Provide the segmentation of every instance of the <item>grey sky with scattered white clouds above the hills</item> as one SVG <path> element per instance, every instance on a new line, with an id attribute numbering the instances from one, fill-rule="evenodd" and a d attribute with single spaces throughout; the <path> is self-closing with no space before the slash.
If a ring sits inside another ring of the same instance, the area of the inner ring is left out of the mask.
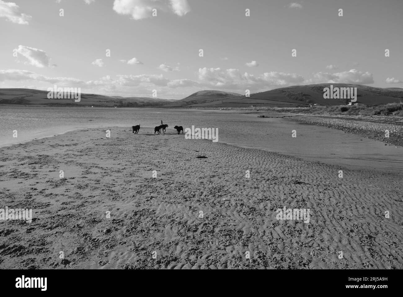
<path id="1" fill-rule="evenodd" d="M 0 88 L 182 99 L 403 87 L 402 0 L 294 1 L 0 0 Z"/>

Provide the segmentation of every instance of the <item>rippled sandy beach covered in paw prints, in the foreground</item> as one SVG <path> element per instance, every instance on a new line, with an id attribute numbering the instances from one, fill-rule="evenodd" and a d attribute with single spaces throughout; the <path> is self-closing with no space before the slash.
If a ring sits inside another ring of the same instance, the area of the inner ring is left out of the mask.
<path id="1" fill-rule="evenodd" d="M 32 223 L 0 221 L 2 268 L 403 268 L 398 173 L 150 128 L 0 152 L 0 208 L 33 209 Z M 310 209 L 309 223 L 277 219 L 283 207 Z"/>

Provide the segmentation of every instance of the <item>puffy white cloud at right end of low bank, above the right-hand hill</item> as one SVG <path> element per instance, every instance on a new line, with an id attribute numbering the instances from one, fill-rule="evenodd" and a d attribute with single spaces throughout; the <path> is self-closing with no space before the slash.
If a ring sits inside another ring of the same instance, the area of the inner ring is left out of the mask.
<path id="1" fill-rule="evenodd" d="M 331 83 L 331 84 L 373 84 L 372 73 L 361 72 L 355 69 L 339 73 L 318 72 L 310 80 L 312 83 Z"/>

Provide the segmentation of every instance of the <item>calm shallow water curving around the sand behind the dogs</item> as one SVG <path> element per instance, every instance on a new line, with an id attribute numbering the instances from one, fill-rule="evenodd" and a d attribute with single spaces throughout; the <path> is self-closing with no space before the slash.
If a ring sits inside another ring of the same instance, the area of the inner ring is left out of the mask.
<path id="1" fill-rule="evenodd" d="M 277 115 L 275 115 L 277 116 Z M 218 128 L 218 141 L 340 166 L 403 172 L 403 148 L 282 118 L 257 118 L 224 110 L 156 108 L 0 107 L 0 146 L 91 127 L 168 124 Z M 13 138 L 13 130 L 18 138 Z M 291 131 L 297 137 L 291 137 Z M 128 132 L 129 133 L 129 132 Z M 141 133 L 141 130 L 140 132 Z"/>

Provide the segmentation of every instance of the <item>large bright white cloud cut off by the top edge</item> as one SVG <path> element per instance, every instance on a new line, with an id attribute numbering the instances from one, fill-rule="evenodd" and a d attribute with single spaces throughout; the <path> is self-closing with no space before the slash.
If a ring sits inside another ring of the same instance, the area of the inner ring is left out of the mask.
<path id="1" fill-rule="evenodd" d="M 187 0 L 114 0 L 113 10 L 120 15 L 131 15 L 139 20 L 152 16 L 152 9 L 170 9 L 176 15 L 183 16 L 190 11 Z"/>

